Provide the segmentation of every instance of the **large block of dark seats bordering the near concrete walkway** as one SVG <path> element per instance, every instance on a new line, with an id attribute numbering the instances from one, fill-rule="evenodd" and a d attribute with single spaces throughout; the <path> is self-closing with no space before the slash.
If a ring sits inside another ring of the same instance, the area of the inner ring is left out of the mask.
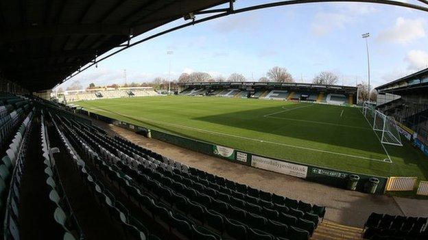
<path id="1" fill-rule="evenodd" d="M 86 149 L 80 156 L 88 156 L 82 157 L 85 166 L 93 165 L 91 171 L 103 172 L 143 211 L 165 224 L 169 231 L 189 239 L 308 239 L 318 226 L 318 219 L 324 217 L 324 207 L 187 168 L 119 137 L 108 137 L 104 131 L 83 122 L 60 116 L 53 119 L 58 129 L 67 130 L 67 137 L 78 139 L 74 142 L 80 146 L 75 149 Z M 116 207 L 112 212 L 117 212 L 124 228 L 129 230 L 127 224 L 132 216 L 121 204 L 114 204 L 113 196 L 107 197 L 102 197 L 101 202 Z M 138 229 L 149 235 L 147 229 Z"/>

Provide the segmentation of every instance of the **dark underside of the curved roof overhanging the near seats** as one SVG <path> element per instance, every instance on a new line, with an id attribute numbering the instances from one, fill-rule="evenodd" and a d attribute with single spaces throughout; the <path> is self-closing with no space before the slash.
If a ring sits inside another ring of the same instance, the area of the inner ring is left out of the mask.
<path id="1" fill-rule="evenodd" d="M 53 88 L 130 36 L 225 2 L 1 1 L 0 75 L 32 91 Z"/>

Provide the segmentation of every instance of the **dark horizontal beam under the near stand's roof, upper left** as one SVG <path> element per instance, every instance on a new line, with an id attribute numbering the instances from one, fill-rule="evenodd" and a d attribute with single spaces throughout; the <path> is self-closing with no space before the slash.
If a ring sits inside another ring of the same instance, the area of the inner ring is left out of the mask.
<path id="1" fill-rule="evenodd" d="M 8 34 L 0 36 L 0 43 L 18 42 L 21 40 L 36 38 L 49 38 L 54 36 L 99 34 L 128 36 L 130 32 L 132 32 L 132 28 L 127 25 L 110 25 L 101 23 L 38 26 L 7 31 Z"/>

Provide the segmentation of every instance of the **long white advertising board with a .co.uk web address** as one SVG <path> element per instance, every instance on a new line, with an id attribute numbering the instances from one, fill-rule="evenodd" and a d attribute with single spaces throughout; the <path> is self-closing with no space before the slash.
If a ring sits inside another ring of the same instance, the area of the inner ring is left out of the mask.
<path id="1" fill-rule="evenodd" d="M 254 168 L 261 168 L 263 170 L 279 172 L 290 176 L 297 176 L 298 178 L 307 177 L 308 168 L 305 165 L 287 163 L 285 161 L 278 161 L 255 155 L 252 155 L 251 157 L 251 165 Z"/>

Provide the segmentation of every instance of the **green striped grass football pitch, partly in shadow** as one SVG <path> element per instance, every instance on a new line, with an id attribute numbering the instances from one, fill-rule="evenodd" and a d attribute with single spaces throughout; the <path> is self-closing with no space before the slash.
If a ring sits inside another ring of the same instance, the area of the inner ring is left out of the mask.
<path id="1" fill-rule="evenodd" d="M 428 158 L 422 152 L 403 137 L 403 147 L 382 146 L 356 107 L 195 96 L 76 104 L 131 124 L 267 157 L 377 176 L 428 178 Z"/>

